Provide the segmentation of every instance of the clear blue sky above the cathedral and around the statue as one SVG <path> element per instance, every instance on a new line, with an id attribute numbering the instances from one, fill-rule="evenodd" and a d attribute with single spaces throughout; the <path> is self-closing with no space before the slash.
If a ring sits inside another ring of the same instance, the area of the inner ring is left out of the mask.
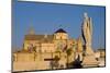
<path id="1" fill-rule="evenodd" d="M 84 12 L 92 19 L 92 48 L 105 48 L 105 7 L 21 1 L 12 3 L 12 46 L 22 47 L 30 27 L 36 34 L 53 34 L 62 27 L 77 39 L 81 35 Z"/>

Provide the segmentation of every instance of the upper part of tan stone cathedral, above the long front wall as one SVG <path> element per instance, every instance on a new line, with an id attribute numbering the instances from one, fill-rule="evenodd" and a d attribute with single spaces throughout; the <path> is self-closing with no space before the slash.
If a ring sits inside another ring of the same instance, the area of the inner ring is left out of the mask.
<path id="1" fill-rule="evenodd" d="M 23 50 L 34 52 L 55 52 L 66 51 L 73 47 L 76 41 L 68 37 L 68 34 L 63 28 L 57 29 L 52 35 L 36 35 L 31 28 L 24 37 Z"/>

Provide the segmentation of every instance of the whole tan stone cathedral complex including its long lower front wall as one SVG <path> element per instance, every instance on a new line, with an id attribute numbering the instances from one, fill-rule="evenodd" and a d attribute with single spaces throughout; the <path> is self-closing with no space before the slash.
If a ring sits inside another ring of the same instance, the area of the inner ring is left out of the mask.
<path id="1" fill-rule="evenodd" d="M 13 71 L 66 69 L 74 61 L 78 45 L 63 28 L 52 35 L 36 35 L 30 29 L 24 36 L 23 49 L 13 53 Z M 68 49 L 72 49 L 69 56 Z"/>

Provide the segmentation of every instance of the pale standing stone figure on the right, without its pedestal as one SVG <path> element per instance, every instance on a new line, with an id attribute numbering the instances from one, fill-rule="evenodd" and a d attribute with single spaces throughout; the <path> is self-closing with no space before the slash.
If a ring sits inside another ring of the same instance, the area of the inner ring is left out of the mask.
<path id="1" fill-rule="evenodd" d="M 82 29 L 82 38 L 86 47 L 86 53 L 94 53 L 94 51 L 91 50 L 92 23 L 91 23 L 91 17 L 88 17 L 87 13 L 84 13 L 84 23 L 81 29 Z"/>

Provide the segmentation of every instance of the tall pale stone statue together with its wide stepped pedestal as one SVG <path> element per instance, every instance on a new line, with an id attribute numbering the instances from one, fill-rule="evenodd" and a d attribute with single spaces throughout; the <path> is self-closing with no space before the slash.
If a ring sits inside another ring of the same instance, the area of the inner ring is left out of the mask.
<path id="1" fill-rule="evenodd" d="M 81 27 L 82 38 L 84 38 L 84 51 L 82 51 L 82 63 L 86 66 L 97 66 L 98 62 L 95 58 L 94 50 L 91 48 L 92 41 L 92 23 L 91 17 L 88 17 L 87 13 L 84 13 L 84 23 Z"/>

